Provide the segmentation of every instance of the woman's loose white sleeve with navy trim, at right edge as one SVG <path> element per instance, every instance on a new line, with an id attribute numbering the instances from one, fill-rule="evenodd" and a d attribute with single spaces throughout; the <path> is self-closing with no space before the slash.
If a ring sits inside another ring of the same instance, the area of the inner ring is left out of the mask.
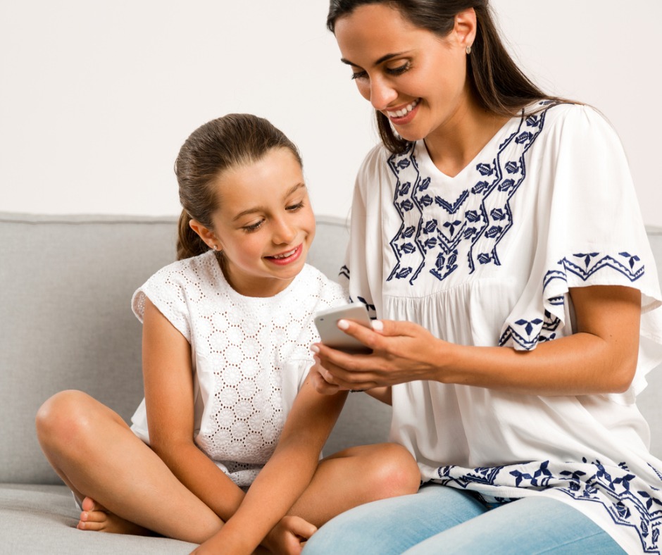
<path id="1" fill-rule="evenodd" d="M 570 335 L 570 287 L 639 289 L 639 363 L 624 397 L 630 401 L 662 361 L 662 295 L 625 152 L 613 127 L 593 108 L 555 106 L 547 119 L 549 135 L 538 158 L 537 250 L 499 344 L 530 350 Z"/>

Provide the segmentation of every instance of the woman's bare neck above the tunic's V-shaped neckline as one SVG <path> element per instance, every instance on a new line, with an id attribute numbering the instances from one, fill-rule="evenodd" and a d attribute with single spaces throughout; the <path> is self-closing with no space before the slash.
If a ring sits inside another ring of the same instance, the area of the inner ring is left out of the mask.
<path id="1" fill-rule="evenodd" d="M 432 163 L 449 177 L 466 168 L 510 119 L 486 111 L 469 92 L 466 99 L 446 123 L 425 137 Z"/>

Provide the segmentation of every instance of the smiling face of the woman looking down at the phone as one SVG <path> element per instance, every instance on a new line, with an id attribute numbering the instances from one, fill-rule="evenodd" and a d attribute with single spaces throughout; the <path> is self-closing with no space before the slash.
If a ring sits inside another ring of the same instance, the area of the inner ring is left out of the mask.
<path id="1" fill-rule="evenodd" d="M 394 8 L 368 4 L 339 18 L 335 37 L 358 92 L 404 139 L 443 132 L 466 112 L 473 10 L 458 14 L 454 30 L 442 38 L 409 23 Z"/>

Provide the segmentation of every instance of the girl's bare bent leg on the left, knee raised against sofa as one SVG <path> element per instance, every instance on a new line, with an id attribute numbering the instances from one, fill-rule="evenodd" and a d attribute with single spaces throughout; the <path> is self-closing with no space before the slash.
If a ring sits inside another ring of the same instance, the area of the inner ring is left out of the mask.
<path id="1" fill-rule="evenodd" d="M 223 525 L 117 413 L 85 393 L 65 391 L 47 400 L 37 413 L 37 437 L 77 499 L 89 508 L 85 498 L 92 498 L 101 505 L 96 509 L 110 511 L 109 528 L 125 528 L 115 515 L 161 535 L 201 543 Z M 88 528 L 98 529 L 93 523 L 101 511 L 84 513 Z"/>

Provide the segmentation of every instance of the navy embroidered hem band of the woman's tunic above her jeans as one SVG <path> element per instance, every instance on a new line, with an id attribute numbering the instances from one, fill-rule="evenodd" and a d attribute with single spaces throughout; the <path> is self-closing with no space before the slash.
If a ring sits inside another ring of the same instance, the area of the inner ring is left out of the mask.
<path id="1" fill-rule="evenodd" d="M 660 476 L 657 470 L 655 473 Z M 635 530 L 644 553 L 660 553 L 660 489 L 637 479 L 626 463 L 606 467 L 600 461 L 582 459 L 582 463 L 542 461 L 473 469 L 440 466 L 437 475 L 435 482 L 502 501 L 509 500 L 499 494 L 502 487 L 538 491 L 554 488 L 577 501 L 601 504 L 616 525 Z"/>

